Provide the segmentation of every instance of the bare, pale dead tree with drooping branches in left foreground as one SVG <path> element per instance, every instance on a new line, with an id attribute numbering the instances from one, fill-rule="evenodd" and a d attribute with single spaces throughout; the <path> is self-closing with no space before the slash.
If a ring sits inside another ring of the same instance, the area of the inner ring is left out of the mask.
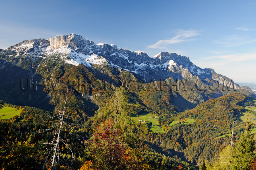
<path id="1" fill-rule="evenodd" d="M 66 143 L 66 141 L 61 138 L 61 132 L 63 130 L 63 127 L 69 127 L 69 128 L 72 129 L 72 127 L 64 121 L 64 119 L 65 119 L 64 114 L 65 114 L 66 104 L 67 104 L 67 95 L 68 95 L 68 91 L 67 91 L 67 94 L 66 94 L 65 101 L 63 101 L 64 102 L 63 109 L 62 110 L 56 110 L 55 109 L 55 115 L 53 117 L 50 117 L 50 118 L 57 118 L 57 123 L 52 122 L 55 125 L 53 127 L 51 127 L 50 129 L 45 130 L 45 131 L 48 131 L 48 130 L 51 130 L 51 129 L 56 129 L 54 131 L 54 136 L 53 136 L 53 139 L 51 140 L 51 142 L 44 143 L 44 144 L 48 145 L 48 147 L 47 147 L 48 156 L 47 156 L 46 161 L 44 163 L 43 169 L 47 165 L 49 165 L 50 163 L 51 163 L 51 167 L 49 168 L 50 170 L 56 169 L 56 164 L 57 163 L 58 164 L 63 164 L 64 163 L 65 158 L 61 154 L 61 151 L 63 151 L 63 150 L 60 149 L 60 143 L 64 144 L 67 148 L 69 148 L 69 150 L 71 151 L 71 154 L 72 154 L 71 155 L 72 156 L 71 161 L 72 161 L 72 163 L 73 163 L 73 161 L 75 161 L 72 149 Z M 69 130 L 69 133 L 71 134 L 70 130 Z M 65 161 L 65 164 L 68 165 L 67 161 Z"/>

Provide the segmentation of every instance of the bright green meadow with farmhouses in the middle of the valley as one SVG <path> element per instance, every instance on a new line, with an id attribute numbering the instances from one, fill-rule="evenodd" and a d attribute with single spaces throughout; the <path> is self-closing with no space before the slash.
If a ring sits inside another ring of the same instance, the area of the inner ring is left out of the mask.
<path id="1" fill-rule="evenodd" d="M 152 125 L 155 125 L 155 126 L 149 127 L 149 130 L 151 130 L 152 132 L 164 133 L 164 130 L 162 129 L 162 127 L 159 125 L 156 125 L 159 117 L 157 116 L 156 119 L 150 118 L 150 117 L 155 117 L 155 116 L 150 113 L 141 113 L 141 114 L 139 114 L 139 117 L 137 117 L 136 115 L 132 116 L 132 118 L 135 120 L 135 122 L 139 122 L 138 119 L 141 119 L 143 121 L 145 120 L 146 122 L 152 122 Z"/>

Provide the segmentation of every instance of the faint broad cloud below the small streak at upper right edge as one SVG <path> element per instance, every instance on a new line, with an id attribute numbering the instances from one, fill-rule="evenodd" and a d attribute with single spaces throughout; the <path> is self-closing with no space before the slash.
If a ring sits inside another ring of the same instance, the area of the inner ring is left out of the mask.
<path id="1" fill-rule="evenodd" d="M 256 42 L 256 39 L 251 39 L 248 36 L 225 36 L 214 43 L 220 44 L 223 47 L 233 47 L 237 45 L 243 45 L 248 43 Z"/>

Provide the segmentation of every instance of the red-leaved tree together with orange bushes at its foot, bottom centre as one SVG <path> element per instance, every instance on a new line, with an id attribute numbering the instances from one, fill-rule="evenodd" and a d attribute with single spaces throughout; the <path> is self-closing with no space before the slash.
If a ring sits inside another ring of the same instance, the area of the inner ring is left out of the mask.
<path id="1" fill-rule="evenodd" d="M 93 163 L 87 161 L 87 169 L 150 169 L 138 154 L 125 142 L 123 132 L 113 126 L 113 119 L 102 122 L 92 136 L 86 141 L 88 154 Z"/>

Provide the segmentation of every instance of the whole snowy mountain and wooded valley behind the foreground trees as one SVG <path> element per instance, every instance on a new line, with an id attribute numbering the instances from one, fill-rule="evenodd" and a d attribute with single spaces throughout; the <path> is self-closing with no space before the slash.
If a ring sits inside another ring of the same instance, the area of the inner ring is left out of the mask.
<path id="1" fill-rule="evenodd" d="M 69 142 L 76 162 L 62 169 L 85 169 L 99 161 L 88 154 L 93 145 L 84 141 L 106 125 L 95 125 L 93 118 L 110 113 L 113 95 L 123 96 L 121 110 L 134 121 L 129 125 L 136 125 L 137 136 L 134 141 L 124 139 L 133 148 L 126 152 L 137 155 L 136 166 L 129 164 L 133 157 L 128 154 L 119 169 L 199 169 L 214 164 L 230 144 L 233 122 L 232 139 L 237 142 L 245 130 L 245 112 L 254 117 L 256 110 L 250 88 L 197 67 L 189 57 L 168 52 L 149 57 L 144 51 L 95 44 L 77 34 L 0 49 L 0 80 L 0 114 L 5 107 L 19 109 L 16 116 L 5 118 L 3 112 L 0 119 L 0 167 L 6 169 L 15 164 L 42 168 L 47 157 L 43 143 L 54 137 L 54 130 L 42 131 L 51 127 L 55 119 L 49 115 L 63 107 L 67 90 L 65 114 L 73 137 L 65 129 L 63 140 Z M 115 90 L 119 87 L 120 94 Z M 100 118 L 111 120 L 109 115 Z M 256 128 L 256 120 L 251 122 Z M 64 145 L 61 152 L 71 159 Z"/>

